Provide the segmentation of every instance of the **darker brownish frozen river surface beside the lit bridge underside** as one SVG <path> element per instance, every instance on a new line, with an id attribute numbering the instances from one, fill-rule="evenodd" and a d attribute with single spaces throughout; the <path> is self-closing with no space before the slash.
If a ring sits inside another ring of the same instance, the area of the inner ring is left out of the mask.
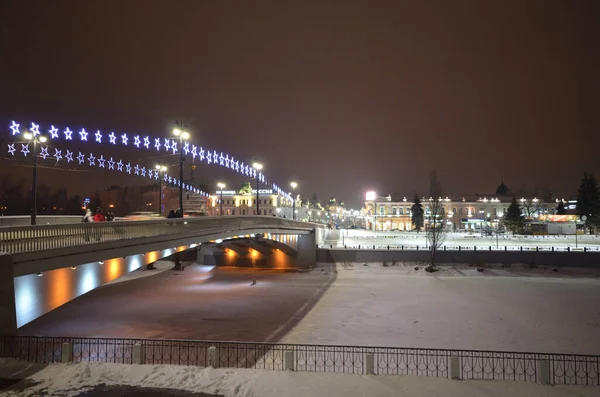
<path id="1" fill-rule="evenodd" d="M 332 269 L 207 271 L 192 265 L 97 288 L 18 334 L 275 342 L 333 282 Z"/>

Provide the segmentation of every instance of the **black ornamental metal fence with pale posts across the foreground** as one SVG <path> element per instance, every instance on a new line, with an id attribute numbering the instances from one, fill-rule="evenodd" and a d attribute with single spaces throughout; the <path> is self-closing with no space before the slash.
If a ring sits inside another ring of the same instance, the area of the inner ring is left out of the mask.
<path id="1" fill-rule="evenodd" d="M 600 356 L 156 339 L 0 337 L 0 357 L 600 386 Z"/>

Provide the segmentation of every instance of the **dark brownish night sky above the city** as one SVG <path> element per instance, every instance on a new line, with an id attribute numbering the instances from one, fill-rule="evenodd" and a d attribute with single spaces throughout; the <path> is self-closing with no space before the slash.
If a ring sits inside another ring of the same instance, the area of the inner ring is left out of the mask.
<path id="1" fill-rule="evenodd" d="M 182 119 L 353 205 L 425 192 L 434 168 L 451 194 L 568 195 L 600 174 L 599 21 L 594 0 L 3 1 L 0 121 L 166 136 Z"/>

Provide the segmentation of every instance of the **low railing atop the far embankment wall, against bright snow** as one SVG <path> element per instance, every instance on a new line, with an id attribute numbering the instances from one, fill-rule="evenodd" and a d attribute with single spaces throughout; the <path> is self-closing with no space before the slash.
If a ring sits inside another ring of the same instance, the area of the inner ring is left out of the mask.
<path id="1" fill-rule="evenodd" d="M 358 244 L 358 245 L 336 245 L 319 244 L 317 248 L 324 249 L 352 249 L 352 250 L 387 250 L 387 251 L 429 251 L 431 247 L 418 244 L 406 245 L 383 245 L 383 244 Z M 600 246 L 585 247 L 554 247 L 554 246 L 527 246 L 527 245 L 444 245 L 438 248 L 438 251 L 521 251 L 521 252 L 600 252 Z"/>

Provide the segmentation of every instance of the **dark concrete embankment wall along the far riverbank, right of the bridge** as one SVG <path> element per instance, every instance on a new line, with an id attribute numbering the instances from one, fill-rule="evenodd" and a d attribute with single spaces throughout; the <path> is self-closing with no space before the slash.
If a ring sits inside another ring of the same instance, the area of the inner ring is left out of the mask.
<path id="1" fill-rule="evenodd" d="M 548 266 L 600 267 L 597 252 L 438 251 L 437 263 L 524 263 Z M 318 249 L 317 262 L 428 262 L 429 251 Z"/>

